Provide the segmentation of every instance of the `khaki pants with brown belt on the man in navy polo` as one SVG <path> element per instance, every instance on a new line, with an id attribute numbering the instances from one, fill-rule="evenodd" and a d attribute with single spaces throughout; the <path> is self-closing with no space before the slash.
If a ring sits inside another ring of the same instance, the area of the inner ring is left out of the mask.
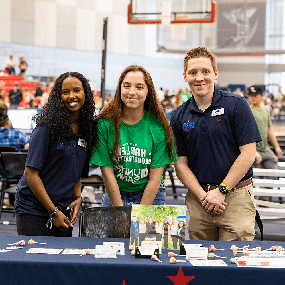
<path id="1" fill-rule="evenodd" d="M 225 197 L 225 210 L 220 215 L 208 214 L 189 190 L 185 204 L 189 211 L 188 233 L 192 240 L 253 241 L 255 236 L 255 201 L 253 185 L 236 189 Z"/>

